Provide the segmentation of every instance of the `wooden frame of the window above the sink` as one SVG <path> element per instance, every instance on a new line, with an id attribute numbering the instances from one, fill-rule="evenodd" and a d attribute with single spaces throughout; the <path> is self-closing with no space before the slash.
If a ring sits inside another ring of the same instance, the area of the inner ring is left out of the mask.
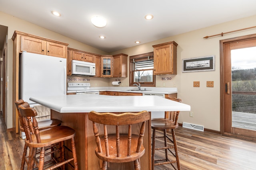
<path id="1" fill-rule="evenodd" d="M 144 53 L 144 54 L 139 54 L 139 55 L 133 55 L 133 56 L 130 56 L 129 57 L 129 74 L 130 74 L 130 85 L 129 86 L 133 86 L 134 83 L 137 83 L 137 82 L 134 82 L 134 70 L 133 70 L 133 60 L 135 61 L 144 61 L 144 60 L 147 60 L 148 57 L 150 57 L 151 59 L 154 60 L 154 52 L 149 52 L 149 53 Z M 154 75 L 154 68 L 152 69 L 145 69 L 145 70 L 152 70 L 153 71 L 153 82 L 138 82 L 140 83 L 140 85 L 142 87 L 156 87 L 156 75 Z"/>

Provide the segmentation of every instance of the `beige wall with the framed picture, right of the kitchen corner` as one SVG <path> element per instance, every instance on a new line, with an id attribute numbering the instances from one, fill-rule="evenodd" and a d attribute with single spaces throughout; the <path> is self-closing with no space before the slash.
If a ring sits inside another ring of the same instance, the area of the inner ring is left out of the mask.
<path id="1" fill-rule="evenodd" d="M 161 87 L 173 87 L 175 83 L 178 88 L 178 98 L 183 103 L 191 106 L 194 117 L 189 117 L 189 111 L 182 111 L 179 123 L 187 122 L 204 125 L 207 129 L 220 131 L 220 40 L 242 35 L 256 33 L 256 29 L 248 29 L 229 33 L 222 36 L 204 39 L 205 36 L 215 35 L 222 32 L 233 31 L 246 27 L 255 26 L 256 16 L 234 20 L 173 37 L 167 37 L 158 41 L 137 45 L 132 48 L 123 49 L 114 53 L 125 53 L 129 56 L 153 51 L 152 45 L 175 41 L 178 43 L 178 74 L 171 76 L 156 76 L 156 82 Z M 187 72 L 182 73 L 182 59 L 215 55 L 215 71 L 210 72 Z M 162 80 L 162 77 L 171 77 L 172 80 Z M 193 81 L 200 81 L 200 87 L 194 88 Z M 206 81 L 214 81 L 214 88 L 206 88 Z M 129 82 L 126 78 L 123 82 Z"/>

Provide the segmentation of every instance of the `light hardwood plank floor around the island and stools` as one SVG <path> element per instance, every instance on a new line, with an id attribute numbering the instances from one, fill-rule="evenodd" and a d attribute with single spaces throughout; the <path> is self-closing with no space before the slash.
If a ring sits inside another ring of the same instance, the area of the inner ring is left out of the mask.
<path id="1" fill-rule="evenodd" d="M 256 143 L 178 127 L 175 131 L 182 170 L 254 170 Z M 160 141 L 156 141 L 158 145 Z M 0 170 L 19 170 L 24 140 L 8 131 L 0 114 Z M 156 156 L 161 156 L 157 154 Z M 170 165 L 154 170 L 172 169 Z"/>

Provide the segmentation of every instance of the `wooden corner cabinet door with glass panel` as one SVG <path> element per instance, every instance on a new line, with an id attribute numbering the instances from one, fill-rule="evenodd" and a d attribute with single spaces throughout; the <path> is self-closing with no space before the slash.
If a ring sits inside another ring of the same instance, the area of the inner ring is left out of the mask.
<path id="1" fill-rule="evenodd" d="M 102 69 L 101 69 L 101 76 L 102 77 L 112 77 L 112 55 L 102 55 L 101 63 L 102 63 Z"/>

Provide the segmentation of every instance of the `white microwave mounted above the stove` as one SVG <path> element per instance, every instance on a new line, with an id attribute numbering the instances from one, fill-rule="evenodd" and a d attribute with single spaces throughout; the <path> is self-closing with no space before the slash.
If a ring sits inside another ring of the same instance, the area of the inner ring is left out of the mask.
<path id="1" fill-rule="evenodd" d="M 95 63 L 72 60 L 72 75 L 95 76 Z"/>

